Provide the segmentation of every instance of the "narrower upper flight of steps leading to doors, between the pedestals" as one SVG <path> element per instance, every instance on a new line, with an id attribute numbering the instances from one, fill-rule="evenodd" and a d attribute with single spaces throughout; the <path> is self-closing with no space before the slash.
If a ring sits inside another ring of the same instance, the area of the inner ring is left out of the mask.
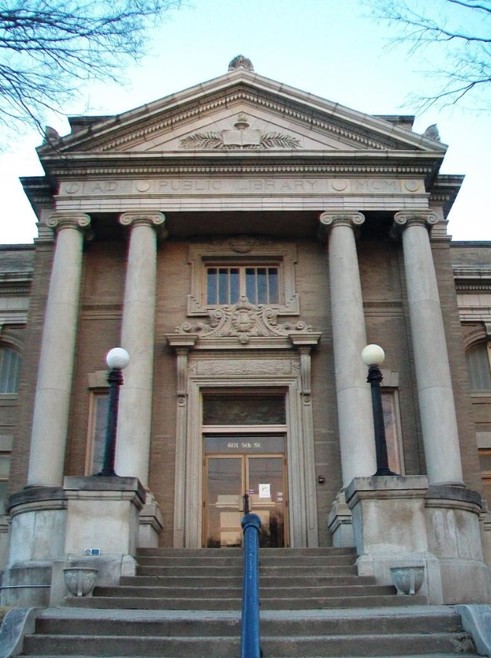
<path id="1" fill-rule="evenodd" d="M 364 608 L 426 603 L 405 599 L 393 587 L 356 575 L 352 549 L 262 549 L 262 610 Z M 147 610 L 240 610 L 240 549 L 143 549 L 138 575 L 118 587 L 97 587 L 94 596 L 69 605 Z"/>

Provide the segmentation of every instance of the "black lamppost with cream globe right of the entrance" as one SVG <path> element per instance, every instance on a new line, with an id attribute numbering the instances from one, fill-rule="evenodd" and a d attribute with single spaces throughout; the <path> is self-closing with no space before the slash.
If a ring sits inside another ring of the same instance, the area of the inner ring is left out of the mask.
<path id="1" fill-rule="evenodd" d="M 373 426 L 375 430 L 375 451 L 377 456 L 377 472 L 374 475 L 399 475 L 389 468 L 387 458 L 387 441 L 385 439 L 384 412 L 380 382 L 382 373 L 379 366 L 385 359 L 384 350 L 379 345 L 367 345 L 361 353 L 363 363 L 368 366 L 367 382 L 372 391 Z"/>

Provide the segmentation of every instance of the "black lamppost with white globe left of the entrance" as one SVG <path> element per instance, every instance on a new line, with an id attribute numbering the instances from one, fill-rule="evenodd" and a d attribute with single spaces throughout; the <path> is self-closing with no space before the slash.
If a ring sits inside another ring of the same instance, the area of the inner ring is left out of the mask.
<path id="1" fill-rule="evenodd" d="M 116 452 L 116 430 L 118 425 L 119 387 L 123 384 L 123 370 L 130 362 L 130 355 L 122 347 L 114 347 L 106 356 L 109 368 L 109 408 L 107 412 L 106 440 L 104 444 L 104 462 L 97 475 L 116 475 L 114 471 L 114 454 Z"/>

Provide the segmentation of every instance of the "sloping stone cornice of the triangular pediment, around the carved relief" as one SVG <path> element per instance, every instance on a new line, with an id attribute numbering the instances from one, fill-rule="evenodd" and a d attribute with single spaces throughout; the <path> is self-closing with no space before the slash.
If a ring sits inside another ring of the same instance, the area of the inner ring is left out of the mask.
<path id="1" fill-rule="evenodd" d="M 436 151 L 443 145 L 401 128 L 380 117 L 369 116 L 311 94 L 279 85 L 257 74 L 240 72 L 175 94 L 125 114 L 103 118 L 101 122 L 44 145 L 39 155 L 50 153 L 114 153 L 145 151 L 155 136 L 171 134 L 237 107 L 237 111 L 269 113 L 276 122 L 322 134 L 325 138 L 360 151 Z"/>

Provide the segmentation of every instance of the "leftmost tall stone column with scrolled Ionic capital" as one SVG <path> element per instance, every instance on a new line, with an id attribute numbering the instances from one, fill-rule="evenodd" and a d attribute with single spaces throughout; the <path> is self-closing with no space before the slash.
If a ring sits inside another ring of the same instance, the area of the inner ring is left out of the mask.
<path id="1" fill-rule="evenodd" d="M 57 232 L 34 401 L 29 486 L 61 486 L 82 272 L 83 229 L 90 217 L 55 213 Z"/>

